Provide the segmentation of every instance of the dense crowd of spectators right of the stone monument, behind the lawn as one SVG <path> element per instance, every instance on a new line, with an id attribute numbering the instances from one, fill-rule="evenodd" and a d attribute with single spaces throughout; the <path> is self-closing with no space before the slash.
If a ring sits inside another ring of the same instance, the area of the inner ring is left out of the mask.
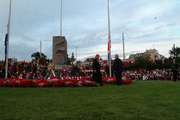
<path id="1" fill-rule="evenodd" d="M 173 68 L 175 59 L 173 59 L 172 68 L 169 69 L 154 69 L 154 70 L 127 70 L 122 71 L 122 77 L 130 78 L 131 80 L 180 80 L 180 71 L 177 70 L 179 64 L 176 64 L 176 68 Z M 112 76 L 115 77 L 114 68 L 112 67 Z M 84 72 L 87 77 L 92 76 L 92 72 Z M 109 71 L 101 72 L 103 77 L 109 76 Z"/>

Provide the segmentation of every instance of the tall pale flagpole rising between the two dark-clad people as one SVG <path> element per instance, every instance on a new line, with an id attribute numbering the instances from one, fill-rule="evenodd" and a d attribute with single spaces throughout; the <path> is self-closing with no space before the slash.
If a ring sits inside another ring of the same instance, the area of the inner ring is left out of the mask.
<path id="1" fill-rule="evenodd" d="M 108 5 L 108 40 L 109 40 L 109 75 L 111 76 L 111 35 L 110 35 L 110 18 L 109 18 L 109 0 Z"/>

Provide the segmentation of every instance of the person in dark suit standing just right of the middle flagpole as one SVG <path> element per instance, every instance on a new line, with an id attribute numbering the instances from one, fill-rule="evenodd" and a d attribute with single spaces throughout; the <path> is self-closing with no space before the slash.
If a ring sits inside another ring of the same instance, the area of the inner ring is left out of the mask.
<path id="1" fill-rule="evenodd" d="M 116 76 L 117 86 L 120 86 L 122 84 L 121 76 L 122 76 L 122 61 L 118 58 L 118 54 L 115 54 L 115 60 L 114 60 L 114 73 Z"/>

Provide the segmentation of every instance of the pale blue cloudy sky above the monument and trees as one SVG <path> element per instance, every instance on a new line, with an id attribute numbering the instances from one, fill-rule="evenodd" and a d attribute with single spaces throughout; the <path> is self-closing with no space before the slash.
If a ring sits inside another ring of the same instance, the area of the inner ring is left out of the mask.
<path id="1" fill-rule="evenodd" d="M 10 0 L 0 0 L 0 60 L 5 59 L 4 39 Z M 173 44 L 180 47 L 180 0 L 109 0 L 111 54 L 125 55 L 155 49 L 165 57 Z M 77 59 L 100 54 L 107 59 L 107 0 L 62 0 L 62 35 L 67 53 Z M 52 37 L 60 35 L 60 0 L 12 0 L 9 58 L 31 61 L 40 51 L 52 59 Z"/>

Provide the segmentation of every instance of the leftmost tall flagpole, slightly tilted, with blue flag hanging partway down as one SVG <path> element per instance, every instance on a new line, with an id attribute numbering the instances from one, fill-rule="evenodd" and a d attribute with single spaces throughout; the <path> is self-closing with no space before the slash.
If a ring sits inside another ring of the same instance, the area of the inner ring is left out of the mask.
<path id="1" fill-rule="evenodd" d="M 9 4 L 9 18 L 8 18 L 8 36 L 7 36 L 7 43 L 6 43 L 6 45 L 7 45 L 7 52 L 6 52 L 6 71 L 5 71 L 5 78 L 7 78 L 7 71 L 8 71 L 8 49 L 9 49 L 9 27 L 10 27 L 10 17 L 11 17 L 11 1 L 12 0 L 10 0 L 10 4 Z"/>

